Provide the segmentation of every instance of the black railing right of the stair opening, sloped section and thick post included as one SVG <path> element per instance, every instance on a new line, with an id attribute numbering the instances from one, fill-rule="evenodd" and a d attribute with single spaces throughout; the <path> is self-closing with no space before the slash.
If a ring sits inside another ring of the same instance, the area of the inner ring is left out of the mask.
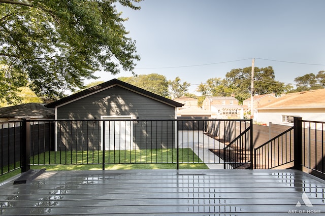
<path id="1" fill-rule="evenodd" d="M 325 179 L 325 122 L 294 117 L 290 128 L 255 148 L 255 169 L 294 168 Z"/>

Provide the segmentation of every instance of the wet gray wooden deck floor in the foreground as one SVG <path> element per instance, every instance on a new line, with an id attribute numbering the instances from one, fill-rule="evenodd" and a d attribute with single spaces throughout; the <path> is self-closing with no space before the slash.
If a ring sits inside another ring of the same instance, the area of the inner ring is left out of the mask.
<path id="1" fill-rule="evenodd" d="M 13 180 L 0 184 L 0 214 L 325 213 L 325 182 L 296 170 L 46 171 L 26 184 Z"/>

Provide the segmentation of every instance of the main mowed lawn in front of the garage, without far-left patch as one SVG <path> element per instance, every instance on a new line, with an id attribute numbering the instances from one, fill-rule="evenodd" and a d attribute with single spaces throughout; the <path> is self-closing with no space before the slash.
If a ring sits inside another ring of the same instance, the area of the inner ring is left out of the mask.
<path id="1" fill-rule="evenodd" d="M 108 167 L 119 166 L 130 167 L 129 165 L 135 165 L 136 167 L 142 167 L 140 165 L 156 164 L 164 165 L 164 168 L 168 168 L 168 165 L 172 165 L 177 162 L 177 150 L 176 149 L 143 149 L 143 150 L 115 150 L 115 151 L 66 151 L 66 152 L 45 152 L 34 156 L 30 159 L 32 165 L 76 165 L 76 167 L 88 166 L 88 165 L 101 165 L 103 164 L 103 157 L 105 164 Z M 199 167 L 206 167 L 202 160 L 191 149 L 179 149 L 179 163 L 201 165 Z M 184 165 L 185 165 L 184 164 Z M 202 166 L 204 165 L 204 166 Z M 153 166 L 148 166 L 153 167 Z M 188 168 L 193 166 L 188 166 Z M 199 168 L 198 167 L 198 168 Z M 122 167 L 121 167 L 122 168 Z M 174 167 L 171 167 L 174 168 Z M 175 166 L 176 168 L 176 166 Z M 109 168 L 108 168 L 109 169 Z M 132 169 L 132 167 L 131 167 Z M 150 168 L 149 168 L 150 169 Z M 70 170 L 70 169 L 69 169 Z"/>

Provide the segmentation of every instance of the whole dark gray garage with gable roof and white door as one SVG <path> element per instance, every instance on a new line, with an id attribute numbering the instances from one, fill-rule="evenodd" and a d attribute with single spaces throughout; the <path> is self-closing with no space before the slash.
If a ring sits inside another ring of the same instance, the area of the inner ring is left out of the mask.
<path id="1" fill-rule="evenodd" d="M 62 120 L 55 129 L 56 149 L 132 150 L 174 148 L 176 122 L 165 120 L 176 119 L 182 105 L 113 79 L 47 107 L 55 108 L 55 119 Z"/>

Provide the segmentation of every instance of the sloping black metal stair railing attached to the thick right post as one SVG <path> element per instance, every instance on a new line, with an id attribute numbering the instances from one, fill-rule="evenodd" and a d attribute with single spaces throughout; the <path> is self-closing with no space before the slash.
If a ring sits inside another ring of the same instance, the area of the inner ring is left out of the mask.
<path id="1" fill-rule="evenodd" d="M 255 148 L 254 157 L 255 169 L 272 169 L 294 162 L 294 127 Z"/>

